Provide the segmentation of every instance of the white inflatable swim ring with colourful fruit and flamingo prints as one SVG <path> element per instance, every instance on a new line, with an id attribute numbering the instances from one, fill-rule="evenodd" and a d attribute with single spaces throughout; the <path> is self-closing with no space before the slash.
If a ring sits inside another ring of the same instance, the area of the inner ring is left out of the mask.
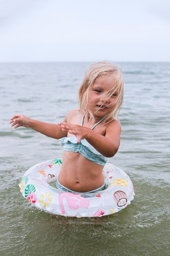
<path id="1" fill-rule="evenodd" d="M 29 168 L 19 184 L 24 198 L 49 213 L 75 217 L 101 217 L 124 209 L 133 200 L 130 177 L 120 168 L 106 163 L 103 169 L 107 189 L 94 193 L 58 190 L 50 183 L 57 180 L 62 159 L 53 159 Z"/>

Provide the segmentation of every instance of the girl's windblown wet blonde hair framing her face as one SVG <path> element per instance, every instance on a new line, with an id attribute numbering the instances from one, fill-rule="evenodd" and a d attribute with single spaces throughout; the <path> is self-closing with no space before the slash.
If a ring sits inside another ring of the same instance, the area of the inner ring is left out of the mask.
<path id="1" fill-rule="evenodd" d="M 121 69 L 115 64 L 110 62 L 98 62 L 93 63 L 88 67 L 79 88 L 79 110 L 81 112 L 88 111 L 91 119 L 94 121 L 93 113 L 88 109 L 88 92 L 93 86 L 95 80 L 102 75 L 113 76 L 113 88 L 110 92 L 105 93 L 105 99 L 107 100 L 110 98 L 115 92 L 117 94 L 116 101 L 114 103 L 114 110 L 106 115 L 104 119 L 104 124 L 106 124 L 113 119 L 119 120 L 119 109 L 123 103 L 124 78 Z"/>

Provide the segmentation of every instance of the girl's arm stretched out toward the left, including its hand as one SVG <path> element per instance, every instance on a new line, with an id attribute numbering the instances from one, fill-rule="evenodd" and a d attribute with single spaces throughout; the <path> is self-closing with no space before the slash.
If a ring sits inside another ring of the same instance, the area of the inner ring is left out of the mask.
<path id="1" fill-rule="evenodd" d="M 66 122 L 66 117 L 64 121 Z M 11 126 L 15 126 L 15 129 L 20 126 L 31 128 L 54 139 L 60 139 L 67 136 L 67 132 L 63 131 L 62 128 L 57 124 L 40 122 L 24 115 L 14 115 L 13 117 L 11 117 L 11 121 L 9 122 L 9 124 L 11 124 Z"/>

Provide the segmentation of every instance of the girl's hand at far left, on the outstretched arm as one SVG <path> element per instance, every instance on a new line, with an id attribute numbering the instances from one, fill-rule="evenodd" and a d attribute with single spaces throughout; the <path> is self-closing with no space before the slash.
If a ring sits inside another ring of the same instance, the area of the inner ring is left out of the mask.
<path id="1" fill-rule="evenodd" d="M 15 126 L 14 128 L 18 128 L 20 126 L 24 126 L 26 128 L 30 127 L 30 121 L 31 119 L 29 117 L 26 117 L 24 115 L 14 115 L 13 117 L 11 117 L 11 121 L 9 122 L 9 124 L 11 124 L 11 126 Z"/>

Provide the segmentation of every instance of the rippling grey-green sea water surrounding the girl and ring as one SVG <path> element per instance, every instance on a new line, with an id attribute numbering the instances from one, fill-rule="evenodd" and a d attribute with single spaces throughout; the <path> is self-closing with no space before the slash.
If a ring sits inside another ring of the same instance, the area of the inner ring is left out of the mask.
<path id="1" fill-rule="evenodd" d="M 0 63 L 0 256 L 169 255 L 170 63 L 117 63 L 124 74 L 118 153 L 109 162 L 131 177 L 135 198 L 102 218 L 55 216 L 24 200 L 30 167 L 62 157 L 56 139 L 14 129 L 11 116 L 56 124 L 78 108 L 90 63 Z"/>

